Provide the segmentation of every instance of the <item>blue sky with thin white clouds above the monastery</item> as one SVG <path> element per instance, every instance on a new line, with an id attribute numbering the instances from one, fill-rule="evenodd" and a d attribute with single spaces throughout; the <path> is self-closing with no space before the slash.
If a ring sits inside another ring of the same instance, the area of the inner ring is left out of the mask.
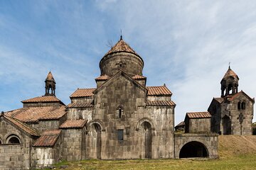
<path id="1" fill-rule="evenodd" d="M 147 86 L 173 92 L 176 123 L 207 111 L 231 68 L 256 96 L 256 1 L 1 1 L 0 110 L 42 96 L 53 72 L 65 104 L 95 87 L 108 41 L 123 38 L 144 59 Z"/>

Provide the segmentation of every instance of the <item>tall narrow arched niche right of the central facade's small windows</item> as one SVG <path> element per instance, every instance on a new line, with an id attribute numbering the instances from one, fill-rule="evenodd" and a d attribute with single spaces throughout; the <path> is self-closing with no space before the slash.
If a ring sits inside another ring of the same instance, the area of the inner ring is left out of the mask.
<path id="1" fill-rule="evenodd" d="M 142 123 L 142 128 L 144 130 L 145 142 L 145 158 L 151 159 L 152 155 L 152 128 L 150 123 L 144 122 Z"/>

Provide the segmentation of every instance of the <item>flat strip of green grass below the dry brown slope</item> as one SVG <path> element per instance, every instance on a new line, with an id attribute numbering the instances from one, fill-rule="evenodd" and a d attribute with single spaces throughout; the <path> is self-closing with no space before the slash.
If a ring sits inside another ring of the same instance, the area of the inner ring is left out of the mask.
<path id="1" fill-rule="evenodd" d="M 137 160 L 85 160 L 62 162 L 68 169 L 256 169 L 256 154 L 246 154 L 222 159 L 137 159 Z"/>

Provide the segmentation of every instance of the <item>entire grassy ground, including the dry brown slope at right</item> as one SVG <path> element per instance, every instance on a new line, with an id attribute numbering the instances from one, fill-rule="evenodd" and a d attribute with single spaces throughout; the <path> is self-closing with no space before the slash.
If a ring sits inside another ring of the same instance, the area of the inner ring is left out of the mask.
<path id="1" fill-rule="evenodd" d="M 62 162 L 56 169 L 256 169 L 256 136 L 219 136 L 219 159 L 137 159 Z M 63 167 L 64 168 L 64 167 Z"/>

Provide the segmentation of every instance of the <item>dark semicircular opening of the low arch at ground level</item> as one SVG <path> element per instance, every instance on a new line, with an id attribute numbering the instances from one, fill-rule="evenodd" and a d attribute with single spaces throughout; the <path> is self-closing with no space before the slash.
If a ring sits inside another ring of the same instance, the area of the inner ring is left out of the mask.
<path id="1" fill-rule="evenodd" d="M 206 146 L 201 142 L 188 142 L 181 148 L 179 158 L 209 157 Z"/>

